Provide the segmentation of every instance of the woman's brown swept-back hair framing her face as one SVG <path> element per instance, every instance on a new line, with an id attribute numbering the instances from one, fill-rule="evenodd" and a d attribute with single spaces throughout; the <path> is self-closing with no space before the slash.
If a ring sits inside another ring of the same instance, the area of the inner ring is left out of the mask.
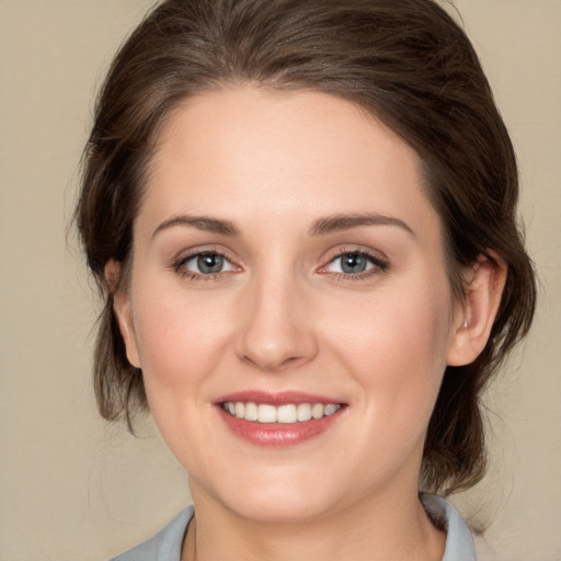
<path id="1" fill-rule="evenodd" d="M 112 259 L 129 264 L 158 133 L 185 98 L 240 82 L 341 96 L 409 142 L 442 217 L 457 297 L 462 267 L 482 255 L 507 265 L 486 347 L 474 363 L 446 369 L 424 450 L 423 490 L 472 485 L 485 468 L 480 397 L 529 329 L 536 284 L 517 228 L 511 140 L 469 39 L 432 0 L 168 0 L 136 28 L 98 100 L 76 214 L 105 302 L 94 365 L 101 414 L 125 416 L 130 427 L 147 408 L 104 267 Z"/>

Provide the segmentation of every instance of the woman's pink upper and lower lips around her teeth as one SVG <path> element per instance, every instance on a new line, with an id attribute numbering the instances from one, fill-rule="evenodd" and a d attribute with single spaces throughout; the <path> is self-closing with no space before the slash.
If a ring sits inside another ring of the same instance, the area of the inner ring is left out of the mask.
<path id="1" fill-rule="evenodd" d="M 270 405 L 285 405 L 288 403 L 341 403 L 343 407 L 330 416 L 311 419 L 298 423 L 257 423 L 238 419 L 222 409 L 222 403 L 228 401 L 243 401 L 253 403 L 266 403 Z M 262 447 L 289 447 L 318 437 L 328 432 L 342 417 L 346 411 L 346 404 L 341 401 L 299 391 L 282 391 L 270 393 L 265 391 L 240 391 L 229 393 L 215 401 L 215 407 L 224 423 L 237 437 Z"/>

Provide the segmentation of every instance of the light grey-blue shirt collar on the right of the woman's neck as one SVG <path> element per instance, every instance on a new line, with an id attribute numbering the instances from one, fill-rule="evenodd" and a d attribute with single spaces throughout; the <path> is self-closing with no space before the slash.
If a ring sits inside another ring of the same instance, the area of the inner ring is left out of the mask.
<path id="1" fill-rule="evenodd" d="M 421 502 L 433 524 L 446 530 L 443 561 L 477 561 L 471 533 L 458 511 L 436 495 L 422 494 Z"/>

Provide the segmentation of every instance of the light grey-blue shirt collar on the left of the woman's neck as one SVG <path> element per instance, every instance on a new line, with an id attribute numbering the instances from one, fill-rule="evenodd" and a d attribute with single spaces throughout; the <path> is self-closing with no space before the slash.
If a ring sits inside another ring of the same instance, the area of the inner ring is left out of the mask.
<path id="1" fill-rule="evenodd" d="M 180 561 L 183 538 L 193 513 L 193 506 L 187 506 L 156 536 L 111 561 Z"/>

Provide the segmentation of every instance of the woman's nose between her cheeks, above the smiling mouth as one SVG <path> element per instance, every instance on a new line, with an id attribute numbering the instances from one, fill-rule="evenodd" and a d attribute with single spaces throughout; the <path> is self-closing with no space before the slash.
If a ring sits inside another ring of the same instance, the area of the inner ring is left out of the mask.
<path id="1" fill-rule="evenodd" d="M 313 313 L 298 283 L 256 279 L 243 300 L 238 357 L 267 373 L 299 367 L 314 358 Z"/>

